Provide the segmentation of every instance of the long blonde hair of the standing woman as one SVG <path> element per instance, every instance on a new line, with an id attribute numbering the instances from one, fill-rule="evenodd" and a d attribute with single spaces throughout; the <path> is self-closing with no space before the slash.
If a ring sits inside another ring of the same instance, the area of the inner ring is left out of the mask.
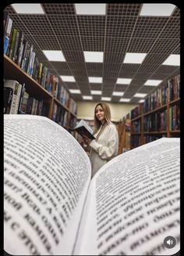
<path id="1" fill-rule="evenodd" d="M 104 124 L 108 124 L 111 122 L 111 110 L 110 107 L 108 106 L 107 103 L 97 103 L 97 105 L 94 108 L 94 133 L 96 133 L 99 128 L 101 127 L 101 121 L 99 121 L 96 117 L 96 108 L 97 106 L 101 106 L 102 109 L 104 110 L 104 119 L 105 119 L 105 123 Z"/>

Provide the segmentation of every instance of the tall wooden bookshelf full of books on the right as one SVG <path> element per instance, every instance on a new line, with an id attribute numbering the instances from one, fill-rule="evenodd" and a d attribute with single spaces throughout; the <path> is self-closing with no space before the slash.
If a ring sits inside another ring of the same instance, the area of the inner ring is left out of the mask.
<path id="1" fill-rule="evenodd" d="M 131 149 L 161 137 L 180 136 L 180 77 L 161 88 L 131 111 Z"/>

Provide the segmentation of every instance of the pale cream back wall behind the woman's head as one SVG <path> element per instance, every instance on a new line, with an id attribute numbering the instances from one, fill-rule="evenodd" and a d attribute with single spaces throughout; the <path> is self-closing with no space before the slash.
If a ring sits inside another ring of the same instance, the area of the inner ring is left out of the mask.
<path id="1" fill-rule="evenodd" d="M 94 120 L 94 107 L 97 102 L 77 101 L 77 118 Z M 137 105 L 123 103 L 108 103 L 111 109 L 111 121 L 119 121 L 129 114 Z"/>

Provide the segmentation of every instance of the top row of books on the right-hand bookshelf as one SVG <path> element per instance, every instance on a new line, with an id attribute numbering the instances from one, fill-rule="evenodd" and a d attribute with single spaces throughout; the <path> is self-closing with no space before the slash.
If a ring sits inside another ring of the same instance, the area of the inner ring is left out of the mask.
<path id="1" fill-rule="evenodd" d="M 154 110 L 174 99 L 180 97 L 180 75 L 169 79 L 161 88 L 157 88 L 150 96 L 143 102 L 143 113 Z"/>

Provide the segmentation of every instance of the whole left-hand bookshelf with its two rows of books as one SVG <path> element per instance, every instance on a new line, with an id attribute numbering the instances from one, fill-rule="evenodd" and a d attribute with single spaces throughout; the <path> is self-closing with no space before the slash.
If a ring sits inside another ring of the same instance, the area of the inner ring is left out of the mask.
<path id="1" fill-rule="evenodd" d="M 23 32 L 12 28 L 9 15 L 4 21 L 4 114 L 46 116 L 73 133 L 76 102 L 58 77 L 39 62 Z"/>

